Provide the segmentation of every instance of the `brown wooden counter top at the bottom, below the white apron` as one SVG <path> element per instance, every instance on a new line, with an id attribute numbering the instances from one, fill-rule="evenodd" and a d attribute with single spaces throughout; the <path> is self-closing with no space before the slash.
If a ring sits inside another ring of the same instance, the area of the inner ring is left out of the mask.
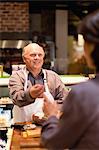
<path id="1" fill-rule="evenodd" d="M 41 128 L 22 131 L 14 129 L 10 150 L 46 150 L 40 144 Z"/>

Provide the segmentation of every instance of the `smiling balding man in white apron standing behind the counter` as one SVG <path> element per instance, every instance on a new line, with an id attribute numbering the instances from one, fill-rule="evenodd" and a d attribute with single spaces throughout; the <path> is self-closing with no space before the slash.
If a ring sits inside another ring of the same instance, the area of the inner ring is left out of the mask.
<path id="1" fill-rule="evenodd" d="M 53 96 L 58 105 L 63 103 L 68 93 L 58 74 L 42 68 L 44 56 L 44 50 L 38 44 L 27 45 L 22 53 L 26 67 L 10 77 L 9 91 L 14 103 L 14 122 L 31 121 L 33 114 L 40 116 L 45 91 Z"/>

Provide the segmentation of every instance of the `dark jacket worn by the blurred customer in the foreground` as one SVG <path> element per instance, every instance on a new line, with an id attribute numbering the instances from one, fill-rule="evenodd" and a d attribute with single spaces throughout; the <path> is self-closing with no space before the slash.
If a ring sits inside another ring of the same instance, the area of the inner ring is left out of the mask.
<path id="1" fill-rule="evenodd" d="M 42 128 L 42 142 L 51 149 L 99 149 L 99 76 L 72 88 L 60 121 L 50 117 Z"/>

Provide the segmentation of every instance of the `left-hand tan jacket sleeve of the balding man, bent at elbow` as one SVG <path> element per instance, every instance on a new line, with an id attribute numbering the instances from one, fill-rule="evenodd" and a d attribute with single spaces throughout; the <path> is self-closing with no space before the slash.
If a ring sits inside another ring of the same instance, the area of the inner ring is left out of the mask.
<path id="1" fill-rule="evenodd" d="M 9 93 L 10 97 L 15 105 L 18 105 L 19 107 L 26 106 L 28 104 L 31 104 L 35 101 L 30 94 L 29 94 L 29 88 L 27 88 L 26 91 L 24 91 L 24 83 L 25 79 L 21 77 L 21 74 L 19 72 L 15 72 L 11 75 L 9 79 Z"/>

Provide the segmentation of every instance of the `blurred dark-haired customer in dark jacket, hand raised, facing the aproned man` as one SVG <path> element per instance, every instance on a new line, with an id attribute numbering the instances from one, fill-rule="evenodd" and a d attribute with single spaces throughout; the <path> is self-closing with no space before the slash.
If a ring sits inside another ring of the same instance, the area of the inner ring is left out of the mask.
<path id="1" fill-rule="evenodd" d="M 78 31 L 84 37 L 87 64 L 96 69 L 96 76 L 71 89 L 60 117 L 57 105 L 44 95 L 48 119 L 41 130 L 41 142 L 49 149 L 99 149 L 99 10 L 86 16 Z"/>

